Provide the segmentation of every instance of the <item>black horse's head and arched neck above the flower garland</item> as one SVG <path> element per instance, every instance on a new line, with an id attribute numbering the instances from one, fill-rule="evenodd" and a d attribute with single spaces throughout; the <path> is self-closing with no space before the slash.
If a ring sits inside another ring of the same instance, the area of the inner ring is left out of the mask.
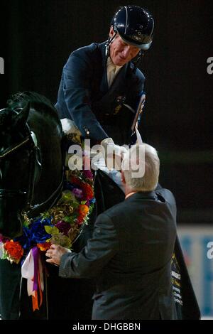
<path id="1" fill-rule="evenodd" d="M 58 116 L 41 95 L 18 94 L 0 111 L 0 233 L 5 237 L 18 236 L 22 210 L 42 203 L 60 183 L 61 138 Z M 58 155 L 54 166 L 52 151 Z"/>

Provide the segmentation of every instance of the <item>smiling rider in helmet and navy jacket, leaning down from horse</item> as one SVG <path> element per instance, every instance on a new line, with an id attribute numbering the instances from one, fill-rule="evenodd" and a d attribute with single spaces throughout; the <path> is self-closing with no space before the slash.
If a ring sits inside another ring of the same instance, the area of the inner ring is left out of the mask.
<path id="1" fill-rule="evenodd" d="M 65 132 L 78 129 L 83 138 L 94 143 L 104 139 L 118 145 L 130 143 L 145 80 L 131 60 L 141 58 L 150 48 L 153 28 L 147 11 L 123 6 L 111 20 L 107 42 L 92 43 L 71 53 L 62 70 L 55 104 Z"/>

